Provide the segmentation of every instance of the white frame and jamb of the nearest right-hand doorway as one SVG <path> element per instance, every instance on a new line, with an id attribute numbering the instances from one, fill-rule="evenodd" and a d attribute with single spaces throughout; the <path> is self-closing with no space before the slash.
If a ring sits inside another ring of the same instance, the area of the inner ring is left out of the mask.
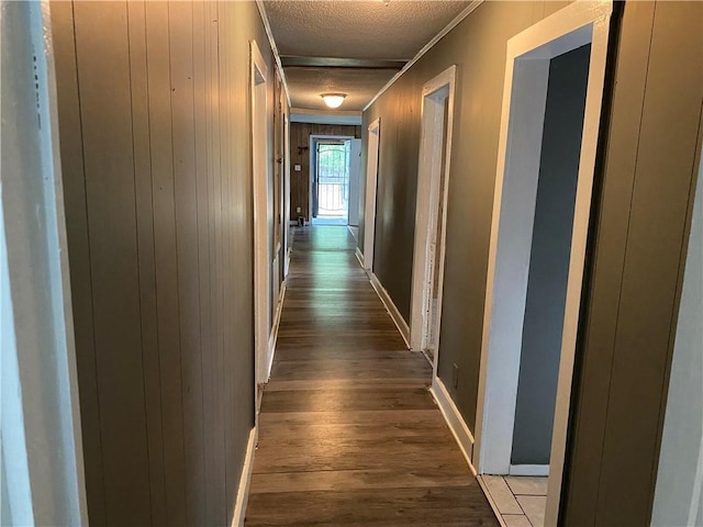
<path id="1" fill-rule="evenodd" d="M 574 2 L 507 43 L 473 449 L 479 474 L 510 468 L 549 59 L 591 44 L 545 525 L 556 525 L 559 512 L 611 14 L 611 1 Z"/>

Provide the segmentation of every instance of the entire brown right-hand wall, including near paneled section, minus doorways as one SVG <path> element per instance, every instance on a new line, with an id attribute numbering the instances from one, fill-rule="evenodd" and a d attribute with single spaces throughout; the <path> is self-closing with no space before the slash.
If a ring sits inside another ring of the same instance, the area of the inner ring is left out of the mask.
<path id="1" fill-rule="evenodd" d="M 367 126 L 381 119 L 373 270 L 408 319 L 421 90 L 457 65 L 438 374 L 450 379 L 451 365 L 459 366 L 458 388 L 445 384 L 470 429 L 476 426 L 505 45 L 559 7 L 482 3 L 364 114 L 365 147 Z M 603 179 L 592 216 L 598 228 L 577 355 L 563 525 L 649 524 L 701 150 L 701 20 L 700 2 L 624 4 L 614 99 L 605 112 L 607 142 L 596 175 Z M 361 248 L 362 240 L 361 232 Z"/>

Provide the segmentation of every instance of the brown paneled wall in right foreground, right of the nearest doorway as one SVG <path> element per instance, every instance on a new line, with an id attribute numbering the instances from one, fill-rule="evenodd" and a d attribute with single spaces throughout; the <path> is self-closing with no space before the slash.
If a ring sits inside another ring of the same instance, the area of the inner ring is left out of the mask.
<path id="1" fill-rule="evenodd" d="M 701 2 L 625 4 L 565 525 L 649 525 L 703 132 L 702 21 Z"/>

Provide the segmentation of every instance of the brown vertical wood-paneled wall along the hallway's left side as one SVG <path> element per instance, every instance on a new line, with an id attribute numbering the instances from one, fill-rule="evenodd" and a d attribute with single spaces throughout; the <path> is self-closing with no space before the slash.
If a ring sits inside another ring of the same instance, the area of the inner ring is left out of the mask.
<path id="1" fill-rule="evenodd" d="M 56 2 L 52 23 L 90 523 L 228 525 L 254 424 L 258 11 Z"/>

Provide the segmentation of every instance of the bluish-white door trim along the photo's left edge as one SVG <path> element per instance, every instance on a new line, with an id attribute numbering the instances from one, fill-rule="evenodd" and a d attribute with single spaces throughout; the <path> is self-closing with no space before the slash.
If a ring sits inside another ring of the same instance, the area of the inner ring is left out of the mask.
<path id="1" fill-rule="evenodd" d="M 2 520 L 85 525 L 48 4 L 2 1 L 0 18 Z"/>

